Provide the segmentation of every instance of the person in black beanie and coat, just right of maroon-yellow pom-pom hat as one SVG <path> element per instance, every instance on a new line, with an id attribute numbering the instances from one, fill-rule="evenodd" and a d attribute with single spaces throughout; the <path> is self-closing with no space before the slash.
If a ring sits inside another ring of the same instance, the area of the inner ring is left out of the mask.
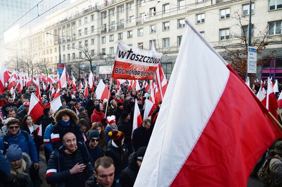
<path id="1" fill-rule="evenodd" d="M 122 131 L 125 134 L 125 148 L 128 150 L 130 155 L 133 152 L 133 147 L 131 145 L 131 136 L 132 136 L 132 126 L 129 122 L 130 114 L 128 112 L 123 112 L 120 115 L 119 120 L 117 121 L 117 128 L 119 131 Z"/>

